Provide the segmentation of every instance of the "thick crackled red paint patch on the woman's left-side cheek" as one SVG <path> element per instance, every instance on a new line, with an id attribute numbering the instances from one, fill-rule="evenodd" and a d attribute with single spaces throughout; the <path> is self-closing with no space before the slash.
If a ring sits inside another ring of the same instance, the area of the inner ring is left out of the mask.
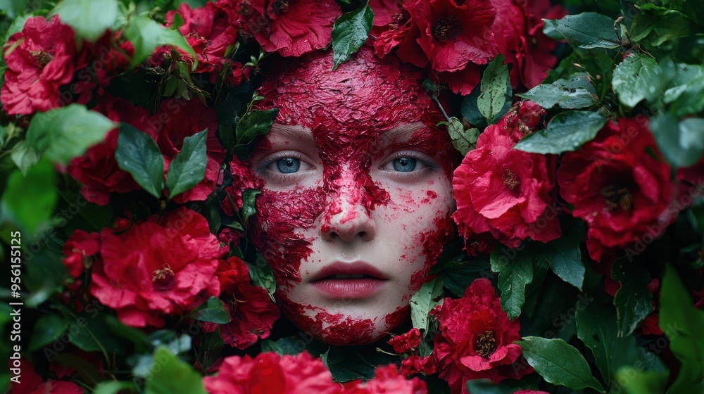
<path id="1" fill-rule="evenodd" d="M 292 191 L 263 188 L 256 205 L 254 245 L 272 267 L 277 284 L 290 287 L 300 283 L 301 260 L 312 253 L 313 242 L 301 230 L 315 225 L 325 208 L 325 192 L 321 187 Z"/>

